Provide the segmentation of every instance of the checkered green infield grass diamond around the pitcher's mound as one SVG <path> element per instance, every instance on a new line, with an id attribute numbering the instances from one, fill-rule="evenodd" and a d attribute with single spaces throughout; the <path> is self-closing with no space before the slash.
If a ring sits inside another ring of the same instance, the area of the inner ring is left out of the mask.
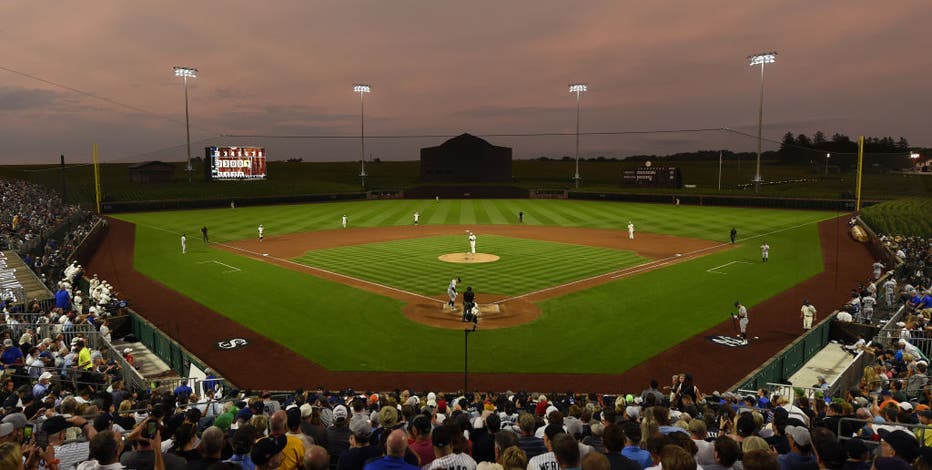
<path id="1" fill-rule="evenodd" d="M 478 237 L 478 251 L 498 255 L 498 261 L 459 264 L 437 259 L 442 254 L 464 253 L 468 248 L 464 236 L 315 250 L 295 261 L 422 295 L 442 294 L 451 278 L 460 277 L 463 285 L 477 292 L 509 296 L 648 261 L 630 251 L 481 233 Z"/>

